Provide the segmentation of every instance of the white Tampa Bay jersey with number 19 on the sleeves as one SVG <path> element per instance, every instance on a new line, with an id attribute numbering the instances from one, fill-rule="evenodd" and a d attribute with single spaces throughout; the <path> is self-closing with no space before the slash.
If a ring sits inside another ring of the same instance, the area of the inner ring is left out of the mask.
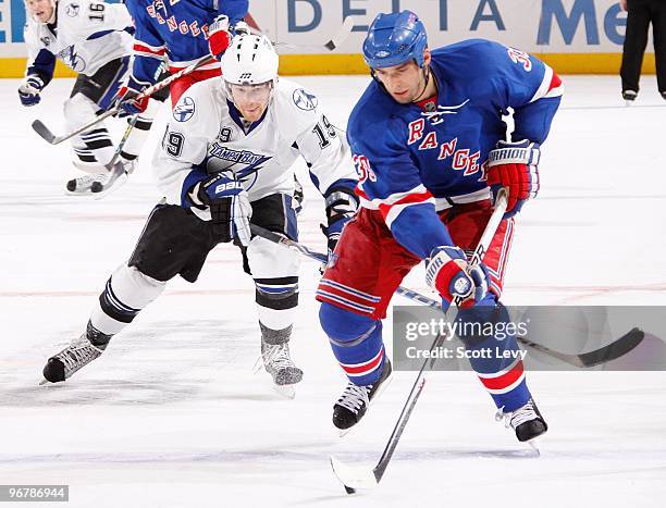
<path id="1" fill-rule="evenodd" d="M 172 205 L 182 205 L 185 178 L 199 168 L 233 171 L 250 201 L 294 193 L 294 170 L 301 156 L 319 190 L 356 181 L 348 145 L 296 83 L 280 78 L 263 119 L 246 132 L 221 77 L 193 85 L 173 109 L 153 166 L 158 186 Z M 187 189 L 185 189 L 186 191 Z"/>

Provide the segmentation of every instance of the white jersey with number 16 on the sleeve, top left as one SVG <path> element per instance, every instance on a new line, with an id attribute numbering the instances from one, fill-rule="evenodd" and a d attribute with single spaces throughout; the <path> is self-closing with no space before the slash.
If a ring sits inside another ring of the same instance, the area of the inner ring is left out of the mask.
<path id="1" fill-rule="evenodd" d="M 29 17 L 25 26 L 28 73 L 32 67 L 45 69 L 45 63 L 52 69 L 44 52 L 86 76 L 91 76 L 111 60 L 132 53 L 133 37 L 125 28 L 132 28 L 133 23 L 125 5 L 60 0 L 55 9 L 54 24 L 38 23 Z"/>

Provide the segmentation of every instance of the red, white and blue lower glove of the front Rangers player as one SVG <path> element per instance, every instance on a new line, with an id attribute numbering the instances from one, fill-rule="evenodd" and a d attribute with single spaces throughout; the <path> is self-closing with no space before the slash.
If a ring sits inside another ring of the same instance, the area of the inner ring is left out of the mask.
<path id="1" fill-rule="evenodd" d="M 490 274 L 483 263 L 470 267 L 459 247 L 440 246 L 425 259 L 425 282 L 448 303 L 460 298 L 458 307 L 468 309 L 488 295 Z"/>

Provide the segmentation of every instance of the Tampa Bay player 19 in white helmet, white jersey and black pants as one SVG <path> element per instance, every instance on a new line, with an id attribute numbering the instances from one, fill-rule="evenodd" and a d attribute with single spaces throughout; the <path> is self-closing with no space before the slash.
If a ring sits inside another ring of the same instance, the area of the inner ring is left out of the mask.
<path id="1" fill-rule="evenodd" d="M 296 239 L 292 165 L 301 156 L 325 198 L 325 233 L 333 248 L 357 209 L 356 173 L 348 146 L 317 98 L 278 79 L 278 54 L 266 37 L 235 37 L 221 64 L 223 77 L 193 85 L 175 106 L 155 157 L 165 198 L 150 214 L 128 263 L 109 278 L 86 332 L 49 359 L 48 381 L 64 381 L 99 357 L 169 280 L 180 274 L 195 282 L 208 252 L 234 239 L 255 280 L 266 370 L 276 385 L 300 381 L 288 349 L 298 256 L 251 237 L 249 223 Z"/>

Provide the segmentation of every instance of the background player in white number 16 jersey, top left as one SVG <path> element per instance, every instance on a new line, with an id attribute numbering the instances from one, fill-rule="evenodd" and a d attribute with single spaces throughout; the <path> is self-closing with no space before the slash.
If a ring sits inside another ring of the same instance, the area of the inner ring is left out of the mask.
<path id="1" fill-rule="evenodd" d="M 132 18 L 123 4 L 95 0 L 26 0 L 25 41 L 28 48 L 26 76 L 18 87 L 21 102 L 35 106 L 53 77 L 60 59 L 78 73 L 71 97 L 64 102 L 66 128 L 74 131 L 107 110 L 126 79 L 132 54 Z M 153 96 L 163 101 L 168 96 Z M 131 173 L 148 135 L 159 102 L 136 119 L 120 158 L 120 169 Z M 130 121 L 128 121 L 130 122 Z M 72 139 L 74 164 L 92 175 L 67 182 L 70 194 L 86 195 L 103 188 L 107 165 L 115 148 L 103 123 Z M 99 182 L 99 184 L 95 184 Z"/>

